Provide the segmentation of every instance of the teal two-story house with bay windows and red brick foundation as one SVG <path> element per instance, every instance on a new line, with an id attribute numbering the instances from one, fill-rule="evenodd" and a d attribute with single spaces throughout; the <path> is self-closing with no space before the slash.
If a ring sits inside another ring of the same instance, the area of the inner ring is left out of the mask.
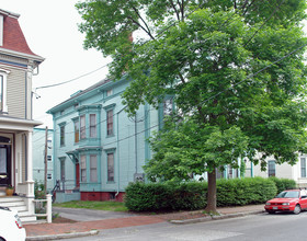
<path id="1" fill-rule="evenodd" d="M 128 117 L 121 94 L 128 87 L 102 80 L 79 91 L 47 113 L 54 122 L 54 182 L 56 202 L 122 200 L 129 182 L 144 180 L 143 165 L 151 152 L 147 139 L 172 107 L 145 104 Z"/>

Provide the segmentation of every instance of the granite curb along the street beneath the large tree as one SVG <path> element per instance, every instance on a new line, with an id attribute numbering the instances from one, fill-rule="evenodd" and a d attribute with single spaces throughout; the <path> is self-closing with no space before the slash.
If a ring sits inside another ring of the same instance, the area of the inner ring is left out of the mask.
<path id="1" fill-rule="evenodd" d="M 229 214 L 229 215 L 220 215 L 220 216 L 207 216 L 203 218 L 194 218 L 194 219 L 186 219 L 186 220 L 170 220 L 170 223 L 173 225 L 190 225 L 190 223 L 197 223 L 197 222 L 205 222 L 211 220 L 221 220 L 227 218 L 237 218 L 237 217 L 243 217 L 248 215 L 257 215 L 262 214 L 263 210 L 257 210 L 257 211 L 245 211 L 245 213 L 236 213 L 236 214 Z"/>

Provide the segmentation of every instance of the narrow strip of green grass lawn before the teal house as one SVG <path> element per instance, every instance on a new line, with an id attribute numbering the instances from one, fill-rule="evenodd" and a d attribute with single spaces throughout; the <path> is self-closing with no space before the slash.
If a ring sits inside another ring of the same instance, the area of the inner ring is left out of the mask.
<path id="1" fill-rule="evenodd" d="M 127 211 L 124 203 L 120 202 L 95 202 L 95 200 L 71 200 L 61 204 L 53 204 L 54 207 L 87 208 L 95 210 Z"/>

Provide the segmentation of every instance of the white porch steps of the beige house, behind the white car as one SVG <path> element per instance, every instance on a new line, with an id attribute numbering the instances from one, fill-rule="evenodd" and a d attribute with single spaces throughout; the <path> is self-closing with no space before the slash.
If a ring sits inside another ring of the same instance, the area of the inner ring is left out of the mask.
<path id="1" fill-rule="evenodd" d="M 22 223 L 36 221 L 36 216 L 27 211 L 26 205 L 22 197 L 19 196 L 1 197 L 0 206 L 15 209 L 19 213 Z"/>

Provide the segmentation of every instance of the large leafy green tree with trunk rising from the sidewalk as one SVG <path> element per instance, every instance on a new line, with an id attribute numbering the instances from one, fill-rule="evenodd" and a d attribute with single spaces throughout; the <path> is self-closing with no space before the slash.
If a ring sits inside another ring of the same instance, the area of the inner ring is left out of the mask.
<path id="1" fill-rule="evenodd" d="M 305 0 L 86 0 L 77 9 L 84 47 L 112 56 L 115 80 L 130 77 L 130 114 L 174 96 L 174 116 L 151 139 L 151 180 L 207 171 L 215 210 L 217 168 L 239 157 L 293 164 L 304 151 Z"/>

